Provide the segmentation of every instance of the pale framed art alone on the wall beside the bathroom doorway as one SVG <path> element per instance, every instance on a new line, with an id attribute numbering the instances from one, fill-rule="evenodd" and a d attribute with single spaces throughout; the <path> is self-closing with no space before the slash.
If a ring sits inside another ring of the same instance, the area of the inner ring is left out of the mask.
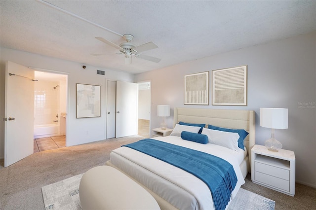
<path id="1" fill-rule="evenodd" d="M 100 117 L 100 86 L 76 84 L 77 118 Z"/>

